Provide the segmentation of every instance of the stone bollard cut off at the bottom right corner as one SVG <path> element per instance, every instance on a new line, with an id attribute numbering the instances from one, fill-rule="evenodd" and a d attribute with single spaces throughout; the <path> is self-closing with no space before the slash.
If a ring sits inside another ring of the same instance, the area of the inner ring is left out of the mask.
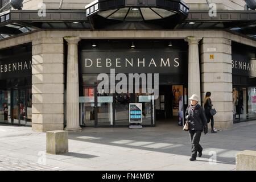
<path id="1" fill-rule="evenodd" d="M 245 150 L 236 155 L 237 171 L 256 171 L 256 151 Z"/>

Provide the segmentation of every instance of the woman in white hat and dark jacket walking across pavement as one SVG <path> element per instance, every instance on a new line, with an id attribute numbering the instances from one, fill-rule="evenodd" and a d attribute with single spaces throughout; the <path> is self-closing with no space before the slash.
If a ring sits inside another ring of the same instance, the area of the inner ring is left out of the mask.
<path id="1" fill-rule="evenodd" d="M 189 105 L 186 110 L 185 118 L 188 121 L 189 135 L 192 144 L 192 154 L 189 160 L 193 161 L 196 160 L 197 152 L 199 152 L 199 157 L 202 156 L 203 148 L 199 142 L 202 131 L 204 130 L 204 134 L 207 134 L 208 126 L 203 107 L 198 104 L 199 97 L 193 94 L 189 100 L 191 100 L 191 105 Z"/>

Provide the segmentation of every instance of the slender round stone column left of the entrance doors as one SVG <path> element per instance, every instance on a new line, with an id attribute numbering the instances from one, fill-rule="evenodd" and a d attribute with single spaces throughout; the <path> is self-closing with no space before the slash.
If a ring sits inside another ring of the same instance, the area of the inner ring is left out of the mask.
<path id="1" fill-rule="evenodd" d="M 79 64 L 78 37 L 66 37 L 68 42 L 67 64 L 67 126 L 65 130 L 81 131 L 79 125 Z"/>

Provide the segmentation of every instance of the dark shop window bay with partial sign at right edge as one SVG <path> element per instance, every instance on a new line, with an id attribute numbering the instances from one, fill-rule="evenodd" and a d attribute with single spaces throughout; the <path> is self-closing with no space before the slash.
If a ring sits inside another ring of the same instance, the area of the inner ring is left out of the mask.
<path id="1" fill-rule="evenodd" d="M 256 49 L 232 44 L 233 115 L 234 122 L 255 119 Z"/>

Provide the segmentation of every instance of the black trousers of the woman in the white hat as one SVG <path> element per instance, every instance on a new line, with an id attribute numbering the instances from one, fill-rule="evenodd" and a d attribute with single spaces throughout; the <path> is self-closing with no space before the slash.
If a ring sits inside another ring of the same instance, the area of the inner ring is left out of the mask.
<path id="1" fill-rule="evenodd" d="M 191 138 L 191 157 L 196 158 L 197 152 L 203 151 L 203 148 L 200 146 L 200 138 L 202 131 L 200 130 L 189 130 L 190 138 Z"/>

